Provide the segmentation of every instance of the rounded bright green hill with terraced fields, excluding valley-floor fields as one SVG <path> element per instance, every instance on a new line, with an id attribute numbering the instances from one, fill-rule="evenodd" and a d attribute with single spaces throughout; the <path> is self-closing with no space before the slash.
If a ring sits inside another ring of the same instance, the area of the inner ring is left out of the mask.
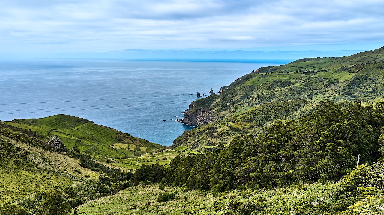
<path id="1" fill-rule="evenodd" d="M 2 122 L 25 130 L 31 129 L 40 135 L 43 142 L 57 135 L 69 149 L 78 147 L 95 159 L 105 161 L 106 158 L 130 158 L 164 149 L 165 146 L 151 143 L 141 138 L 133 137 L 113 128 L 94 124 L 69 115 L 55 115 L 40 119 L 13 120 Z"/>

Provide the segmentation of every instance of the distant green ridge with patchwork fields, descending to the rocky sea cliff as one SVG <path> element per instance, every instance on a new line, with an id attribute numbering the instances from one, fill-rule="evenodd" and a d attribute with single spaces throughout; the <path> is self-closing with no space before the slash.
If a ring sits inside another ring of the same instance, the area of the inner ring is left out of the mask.
<path id="1" fill-rule="evenodd" d="M 382 61 L 384 47 L 348 57 L 304 58 L 282 66 L 261 67 L 222 87 L 220 95 L 192 102 L 184 122 L 207 124 L 263 103 L 295 98 L 315 103 L 325 98 L 334 102 L 360 99 L 365 103 L 377 103 L 382 99 L 378 91 L 367 90 L 370 95 L 363 92 L 354 95 L 348 89 L 361 76 L 363 79 L 369 77 L 381 87 Z M 369 75 L 373 73 L 375 75 Z"/>

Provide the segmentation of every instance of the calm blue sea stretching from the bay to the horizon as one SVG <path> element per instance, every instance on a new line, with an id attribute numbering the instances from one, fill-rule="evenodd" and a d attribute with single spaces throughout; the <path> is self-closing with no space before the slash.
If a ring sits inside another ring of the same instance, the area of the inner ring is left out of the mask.
<path id="1" fill-rule="evenodd" d="M 177 136 L 190 129 L 175 120 L 183 118 L 180 112 L 197 99 L 197 92 L 209 94 L 211 88 L 217 92 L 252 70 L 283 63 L 89 59 L 0 62 L 0 120 L 68 114 L 172 145 Z"/>

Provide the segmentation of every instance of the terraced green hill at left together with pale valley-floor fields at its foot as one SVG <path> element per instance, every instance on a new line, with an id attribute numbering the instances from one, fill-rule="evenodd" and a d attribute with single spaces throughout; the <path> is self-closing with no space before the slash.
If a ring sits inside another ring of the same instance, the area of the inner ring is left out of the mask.
<path id="1" fill-rule="evenodd" d="M 33 136 L 29 130 L 36 133 L 36 141 L 40 141 L 40 144 L 36 145 L 38 147 L 43 146 L 44 142 L 50 141 L 53 135 L 57 135 L 68 149 L 76 146 L 81 152 L 93 156 L 94 159 L 102 162 L 112 161 L 109 163 L 110 165 L 124 170 L 134 170 L 142 164 L 156 164 L 157 162 L 167 165 L 178 154 L 187 153 L 182 153 L 182 150 L 178 151 L 178 149 L 169 150 L 165 146 L 68 115 L 55 115 L 40 119 L 17 119 L 11 122 L 0 121 L 0 131 L 5 133 Z M 197 153 L 192 150 L 188 152 Z M 167 159 L 163 159 L 164 157 Z"/>

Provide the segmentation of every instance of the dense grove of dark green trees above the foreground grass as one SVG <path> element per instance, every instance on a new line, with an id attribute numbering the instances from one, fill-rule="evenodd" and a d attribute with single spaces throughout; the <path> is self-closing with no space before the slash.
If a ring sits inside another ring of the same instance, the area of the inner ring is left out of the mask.
<path id="1" fill-rule="evenodd" d="M 380 157 L 383 114 L 384 104 L 371 108 L 356 101 L 343 108 L 326 100 L 311 116 L 277 120 L 256 137 L 235 138 L 227 147 L 220 144 L 214 153 L 177 156 L 167 169 L 158 167 L 157 172 L 144 166 L 135 179 L 157 182 L 164 176 L 164 184 L 218 193 L 271 188 L 346 162 L 313 179 L 338 181 L 352 171 L 356 164 L 348 161 L 358 154 L 367 154 L 360 159 L 363 164 Z"/>

